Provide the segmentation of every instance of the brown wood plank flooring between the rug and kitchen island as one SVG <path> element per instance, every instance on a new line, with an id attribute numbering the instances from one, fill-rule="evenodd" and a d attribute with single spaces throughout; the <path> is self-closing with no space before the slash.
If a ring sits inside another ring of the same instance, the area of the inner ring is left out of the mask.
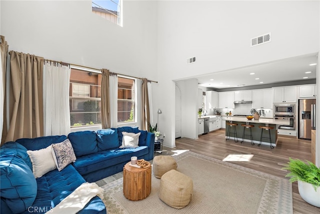
<path id="1" fill-rule="evenodd" d="M 232 163 L 257 171 L 284 178 L 286 170 L 281 168 L 288 162 L 288 158 L 311 160 L 311 141 L 287 137 L 278 137 L 277 146 L 271 149 L 268 145 L 251 145 L 249 142 L 234 142 L 225 140 L 224 129 L 199 136 L 198 139 L 178 138 L 174 148 L 163 147 L 166 150 L 187 149 L 192 152 L 207 155 L 217 159 L 224 159 L 228 154 L 253 154 L 248 162 L 232 161 Z M 288 178 L 286 178 L 288 179 Z M 305 202 L 299 195 L 297 182 L 292 183 L 293 212 L 320 213 L 320 208 Z"/>

